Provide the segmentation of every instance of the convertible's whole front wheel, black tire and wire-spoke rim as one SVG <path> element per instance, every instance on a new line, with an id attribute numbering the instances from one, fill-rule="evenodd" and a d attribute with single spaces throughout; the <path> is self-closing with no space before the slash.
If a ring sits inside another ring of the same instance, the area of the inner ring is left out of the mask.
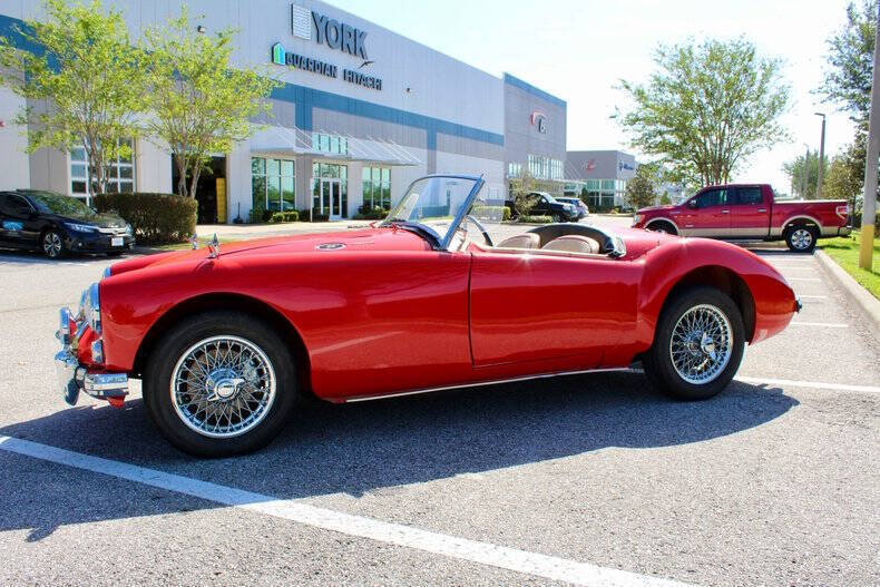
<path id="1" fill-rule="evenodd" d="M 197 457 L 267 444 L 296 399 L 291 353 L 262 321 L 237 312 L 195 315 L 168 331 L 144 372 L 144 401 L 168 441 Z"/>

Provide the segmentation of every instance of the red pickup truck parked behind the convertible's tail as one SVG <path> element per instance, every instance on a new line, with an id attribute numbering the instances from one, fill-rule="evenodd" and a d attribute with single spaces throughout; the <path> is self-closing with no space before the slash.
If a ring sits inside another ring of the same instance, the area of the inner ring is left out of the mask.
<path id="1" fill-rule="evenodd" d="M 725 239 L 785 241 L 808 253 L 819 238 L 845 236 L 849 205 L 843 199 L 775 202 L 767 184 L 704 187 L 677 206 L 652 206 L 636 212 L 633 226 Z"/>

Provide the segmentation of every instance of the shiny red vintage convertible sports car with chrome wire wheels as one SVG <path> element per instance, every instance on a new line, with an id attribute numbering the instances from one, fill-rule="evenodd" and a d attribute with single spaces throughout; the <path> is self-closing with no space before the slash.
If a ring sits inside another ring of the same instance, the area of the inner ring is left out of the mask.
<path id="1" fill-rule="evenodd" d="M 297 400 L 360 401 L 628 366 L 687 400 L 732 380 L 746 343 L 800 310 L 735 245 L 550 224 L 495 242 L 480 177 L 414 182 L 364 229 L 117 263 L 61 310 L 56 365 L 198 456 L 255 450 Z M 497 204 L 497 205 L 496 205 Z M 498 214 L 500 216 L 500 214 Z M 511 225 L 501 227 L 510 234 Z"/>

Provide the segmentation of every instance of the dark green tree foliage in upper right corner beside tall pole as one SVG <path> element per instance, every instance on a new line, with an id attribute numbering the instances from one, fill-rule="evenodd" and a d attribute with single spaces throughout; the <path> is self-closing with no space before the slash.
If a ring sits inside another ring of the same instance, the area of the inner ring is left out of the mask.
<path id="1" fill-rule="evenodd" d="M 860 133 L 868 133 L 876 30 L 877 2 L 850 2 L 845 25 L 827 41 L 828 67 L 817 90 L 848 111 Z"/>

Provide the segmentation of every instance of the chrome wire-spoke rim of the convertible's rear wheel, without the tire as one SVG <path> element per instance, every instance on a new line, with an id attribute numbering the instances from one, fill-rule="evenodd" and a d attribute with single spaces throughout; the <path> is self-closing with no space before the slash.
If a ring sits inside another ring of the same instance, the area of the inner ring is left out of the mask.
<path id="1" fill-rule="evenodd" d="M 695 385 L 714 381 L 733 354 L 733 329 L 724 313 L 700 304 L 682 315 L 672 332 L 669 355 L 675 371 Z"/>

